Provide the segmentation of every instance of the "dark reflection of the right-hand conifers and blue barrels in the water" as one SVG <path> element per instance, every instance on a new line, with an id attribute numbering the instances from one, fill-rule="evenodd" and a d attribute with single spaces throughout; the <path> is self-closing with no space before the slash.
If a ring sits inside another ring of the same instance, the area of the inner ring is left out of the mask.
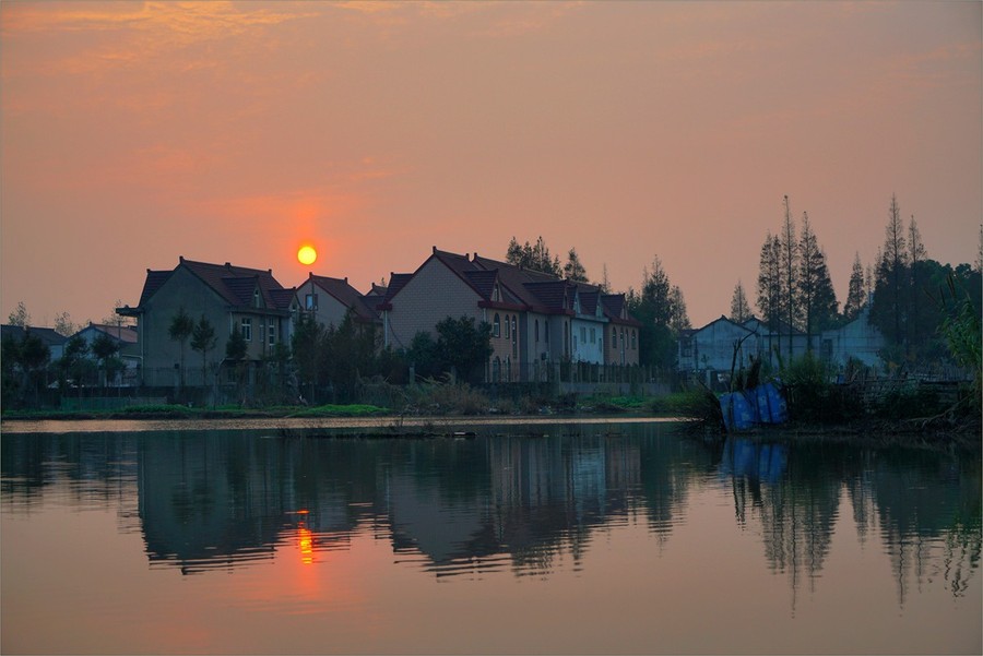
<path id="1" fill-rule="evenodd" d="M 898 597 L 941 579 L 954 595 L 981 557 L 979 457 L 913 449 L 856 449 L 842 444 L 774 445 L 729 440 L 721 474 L 730 478 L 739 523 L 758 517 L 765 556 L 789 573 L 794 597 L 802 576 L 810 585 L 829 552 L 841 490 L 851 501 L 862 542 L 879 526 L 891 558 Z M 777 466 L 779 465 L 779 466 Z"/>

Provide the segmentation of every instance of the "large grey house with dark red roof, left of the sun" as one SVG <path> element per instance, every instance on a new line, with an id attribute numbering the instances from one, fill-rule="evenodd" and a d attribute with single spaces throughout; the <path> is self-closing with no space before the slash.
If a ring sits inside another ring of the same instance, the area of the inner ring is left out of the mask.
<path id="1" fill-rule="evenodd" d="M 295 288 L 285 288 L 272 270 L 196 262 L 179 258 L 170 271 L 146 270 L 140 301 L 117 312 L 137 319 L 142 383 L 171 386 L 183 381 L 200 385 L 203 358 L 169 335 L 181 309 L 198 322 L 204 318 L 215 330 L 215 346 L 205 354 L 206 373 L 216 372 L 224 359 L 228 336 L 241 331 L 246 360 L 252 367 L 274 355 L 276 345 L 289 344 L 293 318 L 299 312 Z M 181 375 L 181 367 L 185 375 Z"/>

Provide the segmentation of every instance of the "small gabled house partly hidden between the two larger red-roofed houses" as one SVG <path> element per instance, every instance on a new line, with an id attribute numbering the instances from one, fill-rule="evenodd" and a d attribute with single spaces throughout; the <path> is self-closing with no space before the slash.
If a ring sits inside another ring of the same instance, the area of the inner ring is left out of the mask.
<path id="1" fill-rule="evenodd" d="M 301 310 L 324 326 L 341 325 L 351 313 L 356 324 L 379 334 L 381 341 L 382 319 L 375 309 L 384 297 L 386 288 L 372 285 L 372 290 L 363 296 L 348 284 L 348 278 L 332 278 L 309 274 L 297 287 L 297 299 Z"/>

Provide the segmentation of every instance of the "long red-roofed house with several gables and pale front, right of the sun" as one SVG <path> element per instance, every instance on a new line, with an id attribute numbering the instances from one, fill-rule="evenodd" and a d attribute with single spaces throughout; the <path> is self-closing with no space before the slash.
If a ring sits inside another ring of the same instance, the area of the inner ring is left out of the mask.
<path id="1" fill-rule="evenodd" d="M 477 253 L 434 247 L 414 273 L 390 276 L 377 309 L 383 344 L 392 348 L 408 347 L 418 332 L 433 333 L 448 317 L 488 323 L 493 353 L 486 379 L 493 382 L 545 380 L 547 362 L 609 363 L 609 354 L 623 356 L 614 362 L 638 363 L 639 324 L 625 311 L 624 295 L 603 295 L 592 285 Z M 611 325 L 624 353 L 607 342 Z"/>

